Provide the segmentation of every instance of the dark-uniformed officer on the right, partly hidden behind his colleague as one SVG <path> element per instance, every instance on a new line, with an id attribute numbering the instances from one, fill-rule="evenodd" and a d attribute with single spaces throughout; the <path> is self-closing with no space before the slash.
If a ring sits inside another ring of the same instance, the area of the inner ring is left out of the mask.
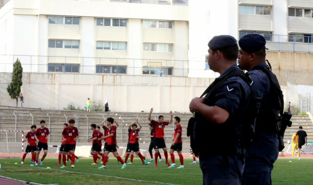
<path id="1" fill-rule="evenodd" d="M 249 34 L 239 40 L 239 65 L 248 71 L 253 81 L 251 90 L 262 99 L 256 118 L 255 137 L 246 147 L 246 165 L 241 185 L 271 185 L 271 171 L 278 158 L 278 136 L 269 120 L 271 83 L 267 74 L 258 67 L 266 64 L 266 40 L 258 34 Z"/>

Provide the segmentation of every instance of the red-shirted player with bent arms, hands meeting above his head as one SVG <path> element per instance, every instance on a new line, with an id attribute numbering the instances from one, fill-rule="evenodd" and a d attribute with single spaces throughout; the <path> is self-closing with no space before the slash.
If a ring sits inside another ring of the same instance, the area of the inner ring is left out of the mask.
<path id="1" fill-rule="evenodd" d="M 137 124 L 139 124 L 139 128 L 137 128 Z M 139 131 L 142 128 L 142 125 L 139 123 L 138 119 L 135 119 L 135 121 L 129 125 L 128 127 L 128 144 L 127 144 L 127 149 L 126 149 L 126 157 L 125 157 L 125 163 L 127 163 L 127 159 L 129 157 L 130 154 L 133 155 L 133 153 L 135 152 L 141 159 L 142 164 L 147 164 L 144 160 L 145 158 L 141 155 L 140 151 L 139 151 L 139 143 L 138 143 L 138 135 L 139 135 Z M 133 155 L 134 156 L 134 155 Z M 131 162 L 129 164 L 133 164 L 133 161 L 131 160 Z"/>

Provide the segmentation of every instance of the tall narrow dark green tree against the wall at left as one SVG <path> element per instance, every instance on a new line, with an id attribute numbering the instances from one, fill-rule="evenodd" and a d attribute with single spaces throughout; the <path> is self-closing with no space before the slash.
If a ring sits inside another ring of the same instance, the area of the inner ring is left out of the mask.
<path id="1" fill-rule="evenodd" d="M 8 91 L 10 97 L 16 100 L 16 106 L 18 106 L 18 97 L 21 93 L 21 86 L 22 82 L 22 72 L 23 68 L 19 59 L 14 62 L 13 65 L 13 75 L 12 75 L 12 82 L 8 84 L 6 90 Z"/>

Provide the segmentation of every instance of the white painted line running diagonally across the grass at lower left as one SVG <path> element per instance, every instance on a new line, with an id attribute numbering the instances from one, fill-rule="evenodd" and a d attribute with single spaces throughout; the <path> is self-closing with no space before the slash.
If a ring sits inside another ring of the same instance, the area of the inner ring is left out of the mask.
<path id="1" fill-rule="evenodd" d="M 8 163 L 8 162 L 3 162 L 3 163 L 12 164 L 12 163 Z M 16 165 L 16 164 L 14 164 L 14 165 Z M 22 164 L 18 164 L 18 165 L 25 166 L 25 167 L 31 167 L 31 166 L 22 165 Z M 46 169 L 44 167 L 36 167 L 36 168 Z M 130 178 L 125 178 L 125 177 L 117 177 L 117 176 L 112 176 L 112 175 L 102 175 L 102 174 L 84 173 L 84 172 L 77 172 L 77 171 L 67 171 L 67 170 L 62 170 L 62 169 L 50 168 L 49 170 L 65 171 L 65 172 L 69 172 L 69 173 L 77 173 L 77 174 L 84 174 L 84 175 L 94 175 L 94 176 L 101 176 L 101 177 L 109 177 L 109 178 L 114 178 L 114 179 L 123 179 L 123 180 L 135 181 L 135 182 L 156 183 L 156 184 L 162 184 L 162 185 L 177 185 L 177 184 L 163 183 L 163 182 L 158 182 L 158 181 L 137 180 L 137 179 L 130 179 Z"/>

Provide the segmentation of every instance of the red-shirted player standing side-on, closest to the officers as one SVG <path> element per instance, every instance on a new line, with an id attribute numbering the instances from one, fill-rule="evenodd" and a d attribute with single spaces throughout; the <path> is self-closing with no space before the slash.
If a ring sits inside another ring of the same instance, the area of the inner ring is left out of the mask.
<path id="1" fill-rule="evenodd" d="M 177 168 L 184 168 L 184 157 L 181 155 L 181 150 L 182 150 L 181 130 L 182 129 L 181 129 L 181 125 L 179 124 L 180 118 L 178 116 L 174 118 L 174 123 L 175 123 L 174 139 L 173 139 L 173 143 L 170 149 L 172 164 L 171 166 L 169 166 L 169 168 L 176 167 L 174 151 L 177 151 L 179 155 L 180 166 Z"/>

